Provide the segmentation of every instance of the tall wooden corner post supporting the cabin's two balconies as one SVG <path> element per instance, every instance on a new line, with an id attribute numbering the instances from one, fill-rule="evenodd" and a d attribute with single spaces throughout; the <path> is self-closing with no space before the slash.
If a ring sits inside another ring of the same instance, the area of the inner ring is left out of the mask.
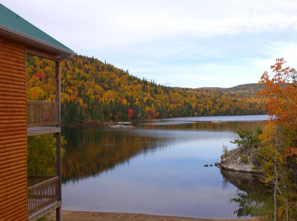
<path id="1" fill-rule="evenodd" d="M 58 127 L 61 127 L 61 61 L 56 61 L 56 101 L 57 101 L 57 116 Z M 59 177 L 58 182 L 58 201 L 62 201 L 62 172 L 61 172 L 61 132 L 56 133 L 56 171 Z M 56 209 L 56 221 L 62 221 L 61 206 Z"/>

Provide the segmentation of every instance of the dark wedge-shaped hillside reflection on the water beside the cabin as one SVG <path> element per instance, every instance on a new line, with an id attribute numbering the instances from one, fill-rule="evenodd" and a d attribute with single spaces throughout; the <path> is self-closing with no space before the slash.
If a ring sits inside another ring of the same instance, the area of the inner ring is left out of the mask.
<path id="1" fill-rule="evenodd" d="M 133 136 L 128 130 L 67 128 L 67 150 L 62 160 L 62 181 L 83 179 L 129 163 L 131 158 L 170 146 L 163 137 Z"/>

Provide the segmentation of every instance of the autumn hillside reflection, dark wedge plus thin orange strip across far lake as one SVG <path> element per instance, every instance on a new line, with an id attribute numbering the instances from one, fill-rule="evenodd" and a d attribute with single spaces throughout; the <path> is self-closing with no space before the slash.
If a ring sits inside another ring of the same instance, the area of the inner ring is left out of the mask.
<path id="1" fill-rule="evenodd" d="M 224 123 L 154 121 L 123 130 L 107 127 L 63 128 L 62 135 L 65 136 L 67 145 L 62 159 L 62 179 L 65 182 L 94 177 L 113 170 L 117 165 L 129 162 L 138 155 L 166 148 L 177 139 L 180 142 L 187 139 L 168 131 L 235 131 L 238 127 L 255 130 L 257 126 L 263 128 L 264 125 L 265 123 L 259 121 Z"/>

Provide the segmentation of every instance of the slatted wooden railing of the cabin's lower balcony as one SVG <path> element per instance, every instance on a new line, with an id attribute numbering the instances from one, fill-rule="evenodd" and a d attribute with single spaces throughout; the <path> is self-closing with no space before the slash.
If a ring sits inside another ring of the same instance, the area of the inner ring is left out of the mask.
<path id="1" fill-rule="evenodd" d="M 29 215 L 58 200 L 59 177 L 29 175 L 28 184 Z"/>

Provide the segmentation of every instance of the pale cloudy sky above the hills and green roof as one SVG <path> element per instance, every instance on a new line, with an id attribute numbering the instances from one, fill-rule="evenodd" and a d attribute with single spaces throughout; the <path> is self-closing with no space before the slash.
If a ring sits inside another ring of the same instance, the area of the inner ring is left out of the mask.
<path id="1" fill-rule="evenodd" d="M 1 0 L 77 54 L 180 87 L 255 83 L 297 67 L 297 1 Z"/>

